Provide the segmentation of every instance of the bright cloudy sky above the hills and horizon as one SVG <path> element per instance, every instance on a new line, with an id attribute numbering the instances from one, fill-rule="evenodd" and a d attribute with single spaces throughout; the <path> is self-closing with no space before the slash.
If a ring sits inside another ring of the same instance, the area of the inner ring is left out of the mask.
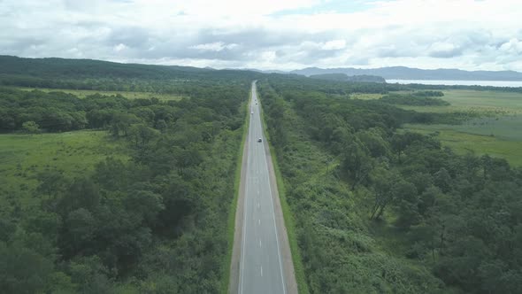
<path id="1" fill-rule="evenodd" d="M 0 0 L 0 54 L 522 72 L 522 0 Z"/>

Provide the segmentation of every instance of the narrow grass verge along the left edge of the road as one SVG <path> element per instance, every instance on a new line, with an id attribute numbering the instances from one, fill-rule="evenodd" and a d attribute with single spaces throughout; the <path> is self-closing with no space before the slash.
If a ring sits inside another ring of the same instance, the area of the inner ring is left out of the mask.
<path id="1" fill-rule="evenodd" d="M 235 213 L 237 210 L 237 201 L 239 198 L 239 189 L 241 185 L 241 171 L 242 171 L 242 159 L 243 159 L 243 151 L 245 148 L 245 141 L 247 139 L 247 134 L 249 133 L 249 125 L 250 125 L 250 112 L 249 105 L 250 99 L 252 96 L 252 92 L 249 94 L 249 101 L 246 105 L 242 106 L 242 109 L 246 112 L 245 115 L 245 123 L 243 124 L 242 130 L 242 140 L 241 147 L 239 148 L 237 154 L 237 161 L 235 164 L 235 174 L 234 174 L 234 198 L 232 199 L 232 203 L 230 204 L 230 209 L 228 212 L 228 221 L 227 221 L 227 242 L 228 242 L 228 251 L 226 253 L 224 267 L 223 267 L 223 281 L 221 282 L 221 293 L 226 294 L 229 293 L 230 290 L 230 269 L 232 266 L 232 254 L 234 252 L 234 231 L 235 231 Z"/>

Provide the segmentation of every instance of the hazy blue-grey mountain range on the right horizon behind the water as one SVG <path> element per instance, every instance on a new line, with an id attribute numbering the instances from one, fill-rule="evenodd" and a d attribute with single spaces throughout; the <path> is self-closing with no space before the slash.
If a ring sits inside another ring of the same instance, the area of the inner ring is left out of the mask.
<path id="1" fill-rule="evenodd" d="M 289 72 L 306 76 L 317 74 L 377 75 L 387 80 L 458 80 L 458 81 L 522 81 L 522 73 L 513 71 L 463 71 L 460 69 L 418 69 L 405 66 L 380 68 L 318 68 L 308 67 Z"/>

